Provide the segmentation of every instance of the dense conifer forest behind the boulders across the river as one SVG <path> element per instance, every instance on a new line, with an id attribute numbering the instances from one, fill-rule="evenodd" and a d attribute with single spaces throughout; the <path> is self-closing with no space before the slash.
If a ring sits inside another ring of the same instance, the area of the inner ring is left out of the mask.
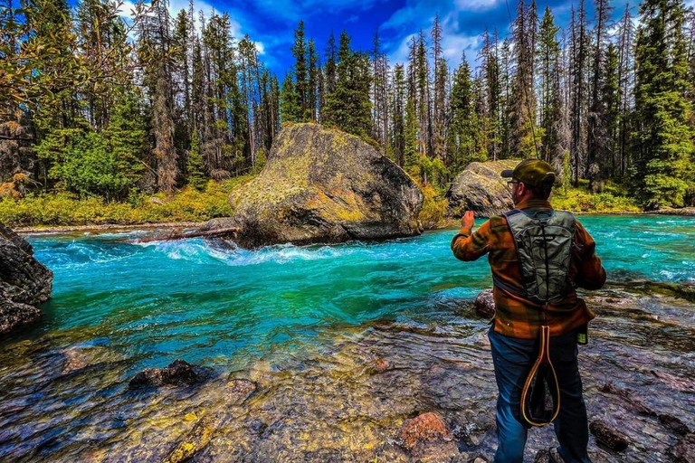
<path id="1" fill-rule="evenodd" d="M 0 196 L 132 201 L 258 173 L 283 123 L 362 137 L 436 191 L 472 161 L 539 157 L 566 184 L 620 185 L 644 209 L 695 204 L 695 14 L 578 0 L 566 28 L 519 0 L 452 69 L 435 17 L 407 62 L 348 31 L 294 30 L 278 77 L 228 14 L 166 0 L 5 0 Z M 636 9 L 636 11 L 635 11 Z M 592 20 L 589 20 L 592 17 Z M 617 21 L 614 18 L 619 18 Z"/>

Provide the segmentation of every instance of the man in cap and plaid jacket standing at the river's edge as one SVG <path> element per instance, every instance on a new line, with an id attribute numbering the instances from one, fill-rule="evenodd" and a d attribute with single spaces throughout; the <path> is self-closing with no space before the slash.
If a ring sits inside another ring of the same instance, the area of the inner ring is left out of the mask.
<path id="1" fill-rule="evenodd" d="M 551 459 L 565 463 L 590 462 L 586 451 L 588 425 L 576 360 L 576 336 L 577 331 L 586 328 L 595 315 L 586 307 L 584 300 L 577 298 L 575 288 L 603 287 L 605 269 L 595 254 L 592 237 L 571 214 L 564 213 L 562 216 L 572 225 L 569 230 L 574 230 L 574 243 L 569 245 L 573 249 L 566 268 L 566 287 L 562 287 L 562 293 L 552 302 L 548 302 L 547 298 L 545 302 L 538 302 L 538 298 L 526 298 L 528 278 L 522 279 L 522 272 L 528 272 L 528 267 L 522 269 L 519 265 L 519 243 L 515 243 L 509 222 L 515 222 L 513 214 L 522 213 L 526 217 L 556 214 L 548 202 L 555 173 L 546 162 L 528 159 L 519 163 L 513 171 L 503 171 L 502 176 L 511 179 L 508 185 L 516 209 L 502 216 L 491 217 L 474 233 L 471 232 L 474 214 L 467 211 L 463 214 L 461 231 L 452 240 L 453 254 L 460 260 L 477 260 L 489 254 L 496 308 L 489 336 L 500 392 L 497 401 L 498 449 L 494 461 L 523 461 L 530 426 L 520 416 L 519 402 L 528 372 L 538 355 L 539 328 L 547 325 L 551 336 L 550 359 L 555 366 L 560 389 L 560 411 L 554 423 L 560 445 L 557 449 L 551 449 Z M 540 255 L 543 255 L 542 252 Z M 547 255 L 546 248 L 546 259 Z"/>

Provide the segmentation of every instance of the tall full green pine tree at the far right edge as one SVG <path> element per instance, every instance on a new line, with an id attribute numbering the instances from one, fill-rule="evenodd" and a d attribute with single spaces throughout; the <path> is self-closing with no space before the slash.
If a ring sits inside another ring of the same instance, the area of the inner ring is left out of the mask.
<path id="1" fill-rule="evenodd" d="M 681 0 L 644 0 L 640 7 L 633 191 L 650 208 L 683 205 L 693 181 L 685 12 Z"/>

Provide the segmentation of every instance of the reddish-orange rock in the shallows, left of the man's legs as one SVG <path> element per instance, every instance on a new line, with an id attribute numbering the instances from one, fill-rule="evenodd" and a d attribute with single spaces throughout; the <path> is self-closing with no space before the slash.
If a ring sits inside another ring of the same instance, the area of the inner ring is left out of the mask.
<path id="1" fill-rule="evenodd" d="M 442 416 L 435 411 L 422 413 L 405 420 L 399 432 L 403 448 L 414 455 L 422 455 L 432 448 L 456 449 L 453 436 Z"/>

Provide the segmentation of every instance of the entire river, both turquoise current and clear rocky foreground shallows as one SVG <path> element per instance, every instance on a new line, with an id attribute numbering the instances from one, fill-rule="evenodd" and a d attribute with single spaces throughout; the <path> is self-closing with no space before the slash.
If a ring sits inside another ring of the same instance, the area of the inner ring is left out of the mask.
<path id="1" fill-rule="evenodd" d="M 695 218 L 580 220 L 609 279 L 586 296 L 599 316 L 580 355 L 589 411 L 634 441 L 616 454 L 592 438 L 592 456 L 670 461 L 678 437 L 599 389 L 615 383 L 693 428 L 695 309 L 672 289 L 695 284 Z M 458 439 L 458 456 L 433 461 L 490 458 L 488 325 L 471 310 L 490 269 L 452 257 L 454 232 L 260 250 L 138 243 L 152 231 L 29 236 L 53 297 L 29 332 L 0 342 L 0 460 L 162 461 L 221 408 L 230 416 L 193 461 L 415 461 L 398 427 L 429 410 Z M 134 374 L 176 359 L 216 379 L 129 391 Z M 258 390 L 224 407 L 232 378 Z M 552 442 L 537 434 L 532 449 Z"/>

